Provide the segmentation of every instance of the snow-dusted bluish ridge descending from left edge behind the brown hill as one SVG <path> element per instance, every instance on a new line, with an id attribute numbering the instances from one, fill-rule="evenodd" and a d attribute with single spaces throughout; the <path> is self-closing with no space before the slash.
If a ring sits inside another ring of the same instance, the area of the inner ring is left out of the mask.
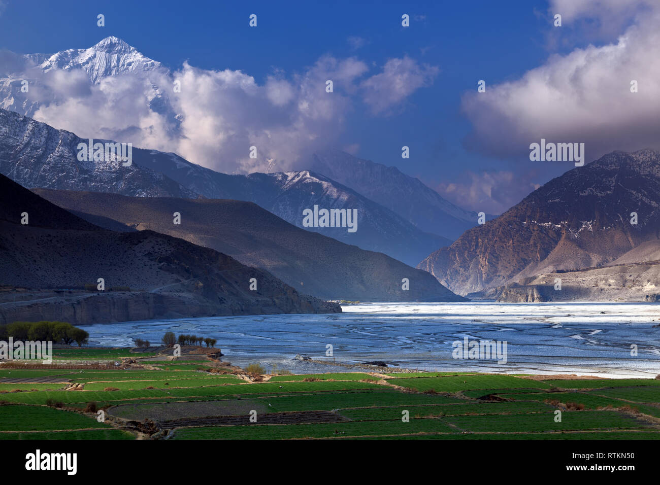
<path id="1" fill-rule="evenodd" d="M 192 164 L 172 153 L 133 148 L 131 166 L 77 159 L 87 143 L 18 113 L 0 110 L 0 173 L 24 187 L 91 190 L 137 197 L 236 199 L 254 202 L 302 227 L 303 210 L 357 209 L 356 232 L 307 228 L 362 249 L 390 255 L 414 267 L 451 241 L 422 232 L 405 218 L 356 191 L 307 170 L 227 175 Z"/>

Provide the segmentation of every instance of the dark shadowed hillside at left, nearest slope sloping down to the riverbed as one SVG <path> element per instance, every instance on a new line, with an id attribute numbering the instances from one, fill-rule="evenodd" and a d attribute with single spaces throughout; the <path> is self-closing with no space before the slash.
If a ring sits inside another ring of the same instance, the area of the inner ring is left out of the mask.
<path id="1" fill-rule="evenodd" d="M 341 311 L 213 249 L 99 228 L 1 175 L 0 285 L 2 323 Z"/>

